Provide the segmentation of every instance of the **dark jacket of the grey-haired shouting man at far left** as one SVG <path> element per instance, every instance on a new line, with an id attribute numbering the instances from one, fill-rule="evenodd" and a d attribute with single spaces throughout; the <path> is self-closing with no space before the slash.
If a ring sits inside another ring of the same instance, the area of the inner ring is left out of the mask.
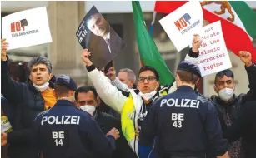
<path id="1" fill-rule="evenodd" d="M 1 61 L 1 92 L 13 105 L 13 131 L 8 133 L 10 158 L 37 158 L 38 150 L 31 143 L 34 118 L 44 111 L 40 91 L 29 83 L 18 83 L 8 74 L 8 61 Z"/>

